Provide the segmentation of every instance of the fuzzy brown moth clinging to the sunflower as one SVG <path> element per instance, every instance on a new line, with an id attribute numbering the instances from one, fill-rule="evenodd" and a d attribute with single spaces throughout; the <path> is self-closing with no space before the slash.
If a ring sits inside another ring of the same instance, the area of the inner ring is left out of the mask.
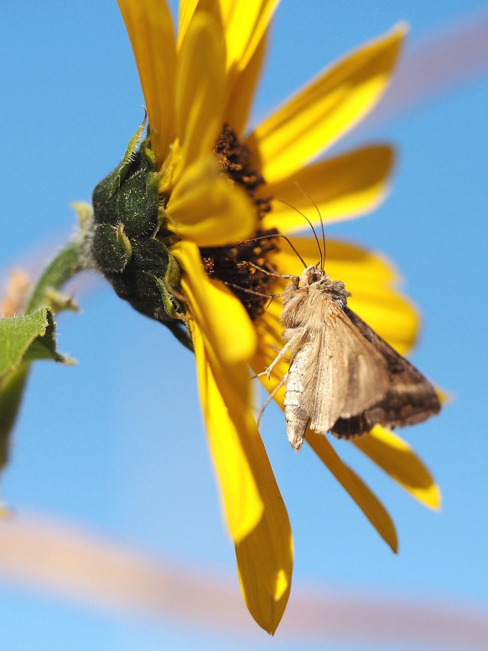
<path id="1" fill-rule="evenodd" d="M 439 412 L 431 383 L 347 307 L 351 294 L 344 283 L 332 281 L 319 264 L 288 278 L 285 345 L 260 375 L 269 377 L 280 359 L 291 358 L 280 386 L 286 385 L 286 434 L 294 450 L 301 449 L 308 425 L 348 438 L 375 424 L 402 427 Z"/>

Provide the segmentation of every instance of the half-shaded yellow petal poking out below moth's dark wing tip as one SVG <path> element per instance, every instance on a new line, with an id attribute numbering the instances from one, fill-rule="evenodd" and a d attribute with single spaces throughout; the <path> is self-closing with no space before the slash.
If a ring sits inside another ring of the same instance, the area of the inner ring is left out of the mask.
<path id="1" fill-rule="evenodd" d="M 426 466 L 408 443 L 379 425 L 353 443 L 413 497 L 430 508 L 441 508 L 441 492 Z"/>

